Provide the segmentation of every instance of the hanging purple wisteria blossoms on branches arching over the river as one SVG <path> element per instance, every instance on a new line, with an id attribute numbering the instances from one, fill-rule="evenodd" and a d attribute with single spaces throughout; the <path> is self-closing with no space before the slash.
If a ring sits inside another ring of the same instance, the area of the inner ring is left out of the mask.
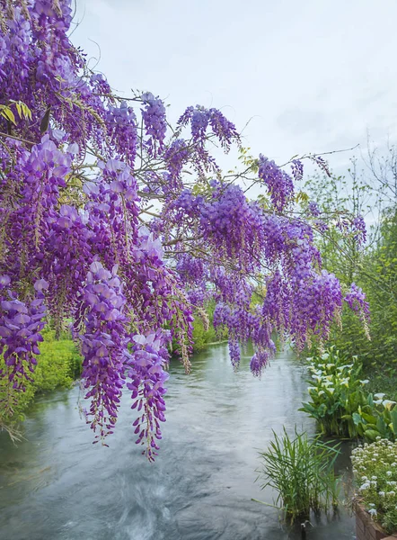
<path id="1" fill-rule="evenodd" d="M 209 299 L 232 364 L 251 340 L 257 376 L 276 334 L 298 349 L 323 341 L 343 302 L 367 320 L 362 291 L 322 270 L 318 207 L 295 212 L 300 160 L 291 175 L 253 160 L 244 177 L 267 203 L 250 201 L 208 150 L 208 140 L 240 148 L 222 112 L 189 107 L 169 130 L 159 97 L 120 99 L 90 71 L 68 38 L 69 0 L 0 0 L 0 10 L 2 412 L 34 377 L 41 330 L 73 320 L 95 440 L 112 433 L 127 388 L 153 460 L 170 344 L 189 371 L 192 321 Z"/>

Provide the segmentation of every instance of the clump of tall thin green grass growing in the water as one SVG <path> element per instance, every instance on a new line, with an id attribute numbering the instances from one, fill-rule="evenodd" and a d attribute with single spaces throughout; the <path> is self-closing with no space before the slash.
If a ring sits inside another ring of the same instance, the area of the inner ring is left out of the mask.
<path id="1" fill-rule="evenodd" d="M 334 464 L 339 447 L 296 430 L 291 437 L 286 428 L 281 436 L 273 435 L 269 448 L 260 452 L 258 479 L 262 489 L 269 486 L 278 492 L 274 504 L 291 521 L 308 517 L 311 510 L 336 508 L 339 479 Z"/>

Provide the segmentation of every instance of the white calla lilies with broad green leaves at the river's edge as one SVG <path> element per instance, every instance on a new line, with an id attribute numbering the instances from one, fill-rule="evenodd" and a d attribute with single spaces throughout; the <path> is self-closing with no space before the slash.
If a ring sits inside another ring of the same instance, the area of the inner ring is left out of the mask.
<path id="1" fill-rule="evenodd" d="M 309 395 L 311 401 L 301 410 L 316 419 L 322 433 L 346 438 L 376 437 L 394 440 L 397 434 L 396 402 L 384 399 L 384 393 L 366 391 L 362 365 L 357 356 L 348 358 L 335 347 L 310 359 Z"/>

